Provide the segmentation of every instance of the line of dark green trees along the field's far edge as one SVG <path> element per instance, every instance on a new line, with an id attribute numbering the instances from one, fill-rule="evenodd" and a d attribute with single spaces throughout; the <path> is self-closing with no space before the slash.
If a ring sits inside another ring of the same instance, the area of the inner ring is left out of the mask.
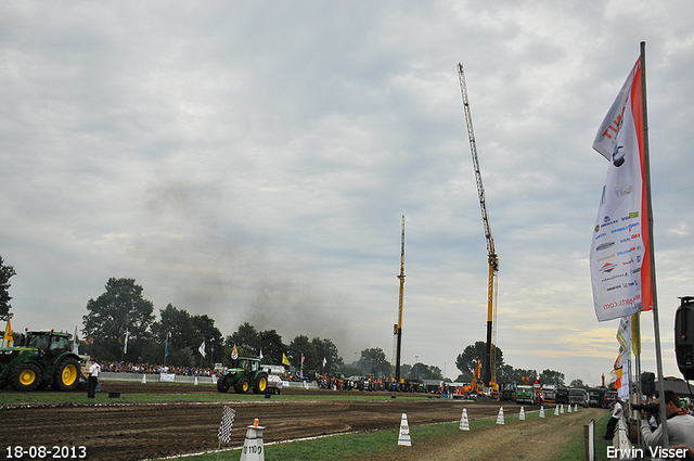
<path id="1" fill-rule="evenodd" d="M 10 279 L 16 272 L 4 265 L 0 256 L 0 320 L 10 313 Z M 168 304 L 155 319 L 154 304 L 144 298 L 143 287 L 134 279 L 111 278 L 105 291 L 87 302 L 82 317 L 80 351 L 99 360 L 160 363 L 174 367 L 211 368 L 228 366 L 232 353 L 241 357 L 260 357 L 264 364 L 282 364 L 286 358 L 295 370 L 345 375 L 390 376 L 394 366 L 380 347 L 363 349 L 352 363 L 345 363 L 330 338 L 299 334 L 285 344 L 277 330 L 258 331 L 244 322 L 231 335 L 223 336 L 215 320 L 207 315 L 191 315 Z M 204 345 L 203 345 L 204 343 Z M 504 363 L 503 351 L 494 347 L 498 383 L 534 383 L 564 385 L 564 373 L 543 370 L 514 369 Z M 485 366 L 485 343 L 477 342 L 458 355 L 455 366 L 461 372 L 455 381 L 471 382 L 476 360 Z M 286 363 L 286 362 L 285 362 Z M 444 380 L 438 367 L 425 363 L 401 366 L 401 376 L 414 380 Z M 577 382 L 576 382 L 577 381 Z M 576 384 L 583 387 L 580 380 Z"/>

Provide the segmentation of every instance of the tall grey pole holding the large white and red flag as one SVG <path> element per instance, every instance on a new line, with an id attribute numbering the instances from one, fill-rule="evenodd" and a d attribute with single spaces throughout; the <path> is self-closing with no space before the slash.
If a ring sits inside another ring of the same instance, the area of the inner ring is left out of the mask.
<path id="1" fill-rule="evenodd" d="M 653 245 L 653 202 L 651 200 L 651 161 L 648 152 L 648 113 L 646 104 L 646 42 L 641 42 L 641 101 L 643 104 L 643 168 L 645 174 L 646 209 L 648 213 L 648 257 L 651 259 L 651 290 L 653 293 L 653 332 L 655 335 L 655 360 L 658 372 L 660 396 L 660 420 L 663 424 L 663 448 L 669 448 L 668 424 L 665 412 L 665 381 L 663 377 L 663 351 L 660 348 L 660 321 L 658 320 L 658 295 L 655 283 L 655 249 Z"/>

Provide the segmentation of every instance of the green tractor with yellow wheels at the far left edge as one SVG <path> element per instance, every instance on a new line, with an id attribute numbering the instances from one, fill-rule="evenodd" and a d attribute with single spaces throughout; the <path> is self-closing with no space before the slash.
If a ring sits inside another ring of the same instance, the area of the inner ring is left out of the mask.
<path id="1" fill-rule="evenodd" d="M 15 346 L 0 349 L 0 388 L 8 384 L 25 392 L 48 385 L 59 390 L 77 387 L 81 369 L 72 334 L 27 331 L 18 336 Z"/>

